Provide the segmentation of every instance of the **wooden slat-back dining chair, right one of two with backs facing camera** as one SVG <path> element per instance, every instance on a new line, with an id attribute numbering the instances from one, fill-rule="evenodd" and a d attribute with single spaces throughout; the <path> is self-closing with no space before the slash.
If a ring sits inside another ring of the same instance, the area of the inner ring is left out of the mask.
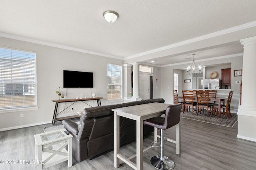
<path id="1" fill-rule="evenodd" d="M 212 106 L 209 106 L 209 92 L 204 90 L 196 91 L 196 100 L 197 100 L 197 110 L 196 110 L 197 115 L 198 115 L 199 108 L 201 108 L 201 110 L 206 108 L 207 117 L 209 117 L 208 109 L 210 108 L 210 112 L 212 112 Z M 200 113 L 201 113 L 201 110 L 200 110 Z M 204 110 L 203 110 L 203 113 L 204 113 Z"/>

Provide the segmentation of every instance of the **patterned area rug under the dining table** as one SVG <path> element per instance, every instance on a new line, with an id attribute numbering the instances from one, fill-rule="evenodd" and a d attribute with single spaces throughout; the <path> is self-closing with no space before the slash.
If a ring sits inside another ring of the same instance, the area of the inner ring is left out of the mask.
<path id="1" fill-rule="evenodd" d="M 204 113 L 198 113 L 198 115 L 196 115 L 196 113 L 194 112 L 192 115 L 192 112 L 184 112 L 184 113 L 180 113 L 180 117 L 184 117 L 186 119 L 192 119 L 192 120 L 196 120 L 196 121 L 202 121 L 202 122 L 206 122 L 206 123 L 212 123 L 212 124 L 216 124 L 216 125 L 222 125 L 222 126 L 226 126 L 226 127 L 233 127 L 236 122 L 237 122 L 237 115 L 235 113 L 231 113 L 232 117 L 230 117 L 228 119 L 226 114 L 221 114 L 221 118 L 218 117 L 218 115 L 210 115 L 209 113 L 209 117 L 207 117 L 207 113 L 206 111 L 204 111 Z"/>

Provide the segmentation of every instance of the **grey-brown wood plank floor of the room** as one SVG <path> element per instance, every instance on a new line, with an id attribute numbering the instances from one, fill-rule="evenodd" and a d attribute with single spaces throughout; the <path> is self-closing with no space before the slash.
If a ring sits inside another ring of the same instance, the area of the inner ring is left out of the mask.
<path id="1" fill-rule="evenodd" d="M 164 143 L 164 155 L 172 158 L 176 170 L 256 170 L 256 143 L 237 139 L 237 123 L 234 127 L 224 127 L 181 118 L 181 154 L 177 155 L 175 144 Z M 43 133 L 39 125 L 0 132 L 0 160 L 34 160 L 34 135 Z M 165 136 L 175 139 L 175 127 L 167 129 Z M 150 146 L 153 134 L 144 138 L 144 147 Z M 136 152 L 136 143 L 120 149 L 124 155 Z M 150 158 L 160 154 L 160 147 L 144 153 L 144 169 L 155 170 Z M 134 162 L 136 159 L 133 160 Z M 68 168 L 67 161 L 47 168 L 48 170 L 114 170 L 114 153 L 108 152 L 93 160 L 75 162 Z M 34 164 L 0 164 L 1 170 L 34 170 Z M 119 170 L 132 170 L 120 161 Z"/>

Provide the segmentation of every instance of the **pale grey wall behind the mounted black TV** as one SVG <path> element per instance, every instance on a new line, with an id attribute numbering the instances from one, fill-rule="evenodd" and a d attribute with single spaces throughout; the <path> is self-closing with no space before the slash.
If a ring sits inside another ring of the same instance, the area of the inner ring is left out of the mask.
<path id="1" fill-rule="evenodd" d="M 103 97 L 102 105 L 107 105 L 107 63 L 123 64 L 122 60 L 100 57 L 96 55 L 80 53 L 45 45 L 38 45 L 14 39 L 0 37 L 0 46 L 14 49 L 21 49 L 36 52 L 36 72 L 37 72 L 37 104 L 38 109 L 32 111 L 16 111 L 0 113 L 0 130 L 11 129 L 11 127 L 26 127 L 28 125 L 37 125 L 52 121 L 55 103 L 52 100 L 59 99 L 55 93 L 58 86 L 63 87 L 63 70 L 75 70 L 93 72 L 94 87 L 92 92 L 96 96 Z M 100 47 L 99 47 L 100 48 Z M 79 81 L 79 80 L 76 80 Z M 63 89 L 64 96 L 67 98 L 75 98 L 80 96 L 91 96 L 90 88 L 81 89 Z M 68 106 L 70 103 L 66 103 Z M 88 101 L 88 104 L 97 106 L 97 102 Z M 64 108 L 65 104 L 59 104 L 59 109 Z M 74 111 L 82 110 L 86 106 L 82 102 L 77 102 L 72 107 Z M 67 109 L 66 111 L 68 111 Z M 65 112 L 66 112 L 65 111 Z M 24 117 L 20 117 L 20 113 Z M 74 114 L 72 111 L 64 113 L 66 115 Z"/>

